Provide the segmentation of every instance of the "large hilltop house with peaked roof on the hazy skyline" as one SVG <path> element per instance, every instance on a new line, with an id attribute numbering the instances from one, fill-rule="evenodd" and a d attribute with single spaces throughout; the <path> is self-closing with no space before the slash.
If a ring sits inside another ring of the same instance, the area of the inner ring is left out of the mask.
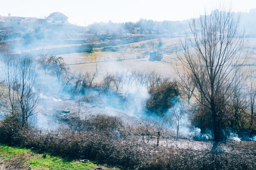
<path id="1" fill-rule="evenodd" d="M 51 13 L 46 19 L 47 23 L 49 24 L 57 24 L 57 25 L 62 25 L 62 24 L 70 24 L 67 21 L 67 16 L 64 15 L 63 13 L 60 12 L 54 12 Z"/>

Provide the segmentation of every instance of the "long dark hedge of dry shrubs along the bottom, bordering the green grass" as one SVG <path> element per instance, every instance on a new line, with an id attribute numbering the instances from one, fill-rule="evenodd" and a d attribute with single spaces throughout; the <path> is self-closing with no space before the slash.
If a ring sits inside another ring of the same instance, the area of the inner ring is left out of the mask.
<path id="1" fill-rule="evenodd" d="M 34 146 L 40 151 L 70 159 L 85 155 L 87 159 L 118 166 L 124 170 L 256 169 L 255 150 L 250 148 L 239 152 L 236 150 L 212 152 L 207 149 L 178 149 L 161 145 L 157 147 L 153 143 L 138 140 L 139 133 L 131 133 L 130 137 L 126 138 L 120 133 L 120 138 L 115 137 L 116 133 L 112 130 L 123 128 L 121 120 L 117 117 L 98 115 L 88 121 L 90 122 L 88 126 L 94 128 L 80 132 L 69 129 L 45 132 L 40 132 L 36 128 L 20 130 L 16 136 L 16 145 Z M 2 134 L 11 136 L 14 135 L 12 132 L 16 134 L 11 128 L 4 126 L 10 125 L 1 124 L 0 139 L 3 137 Z M 8 130 L 9 132 L 6 132 Z"/>

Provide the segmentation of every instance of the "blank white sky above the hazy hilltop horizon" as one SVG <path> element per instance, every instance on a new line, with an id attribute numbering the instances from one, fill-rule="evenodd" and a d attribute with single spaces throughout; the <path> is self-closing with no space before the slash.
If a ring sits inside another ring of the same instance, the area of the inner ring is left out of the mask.
<path id="1" fill-rule="evenodd" d="M 218 2 L 218 3 L 217 3 Z M 256 0 L 222 0 L 233 11 L 256 9 Z M 93 22 L 127 22 L 140 18 L 186 20 L 204 9 L 214 9 L 220 0 L 0 0 L 0 15 L 44 18 L 59 11 L 68 21 L 81 26 Z"/>

